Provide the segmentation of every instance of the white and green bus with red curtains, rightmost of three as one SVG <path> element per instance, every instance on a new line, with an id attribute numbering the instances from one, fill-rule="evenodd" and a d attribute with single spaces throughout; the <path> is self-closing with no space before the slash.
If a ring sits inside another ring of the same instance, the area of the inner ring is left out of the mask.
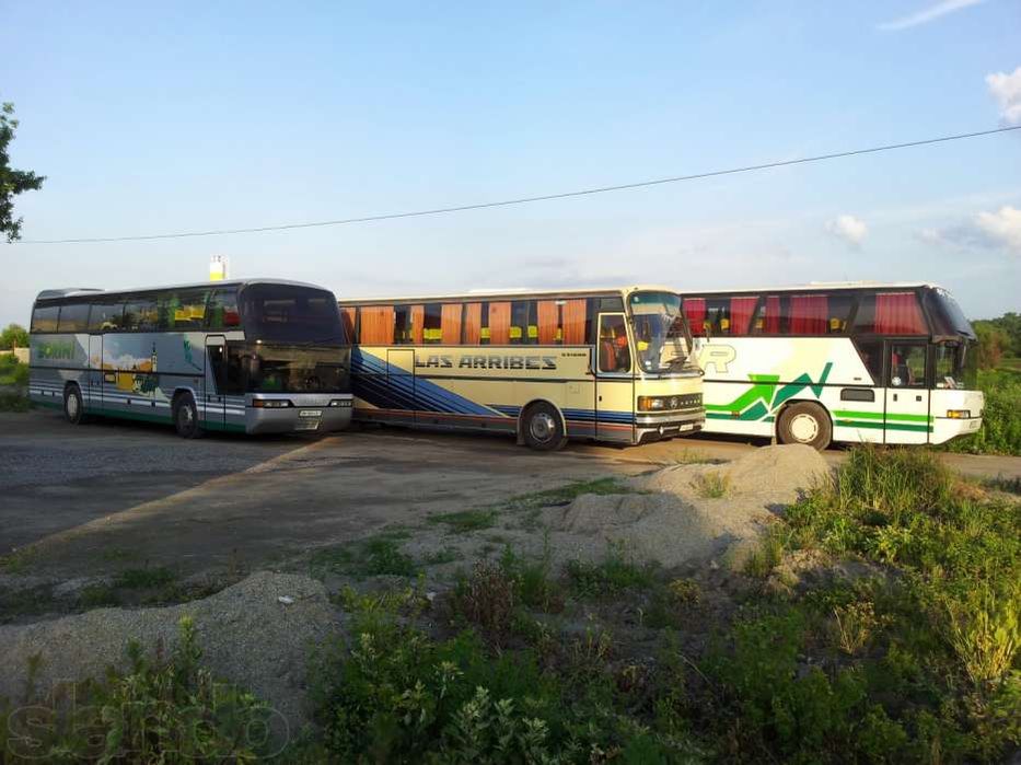
<path id="1" fill-rule="evenodd" d="M 682 293 L 706 432 L 824 449 L 943 443 L 982 426 L 975 332 L 930 283 Z"/>

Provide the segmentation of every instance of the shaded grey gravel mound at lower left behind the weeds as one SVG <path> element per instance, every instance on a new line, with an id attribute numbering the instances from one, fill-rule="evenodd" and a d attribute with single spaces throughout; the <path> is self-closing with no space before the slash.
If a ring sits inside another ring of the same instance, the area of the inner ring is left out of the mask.
<path id="1" fill-rule="evenodd" d="M 280 603 L 282 595 L 293 603 Z M 295 730 L 304 720 L 309 646 L 337 634 L 339 626 L 320 582 L 268 571 L 205 600 L 165 608 L 98 608 L 0 627 L 0 697 L 23 699 L 28 659 L 36 653 L 42 654 L 42 665 L 35 691 L 45 697 L 56 683 L 102 677 L 107 667 L 126 669 L 131 640 L 147 651 L 159 645 L 170 650 L 183 616 L 195 619 L 202 663 L 218 677 L 269 702 Z"/>

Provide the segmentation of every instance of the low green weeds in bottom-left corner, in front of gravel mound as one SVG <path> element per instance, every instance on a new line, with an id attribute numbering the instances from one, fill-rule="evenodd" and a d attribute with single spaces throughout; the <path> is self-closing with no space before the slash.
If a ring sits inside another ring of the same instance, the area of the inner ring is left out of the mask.
<path id="1" fill-rule="evenodd" d="M 268 707 L 199 665 L 189 618 L 167 659 L 128 650 L 127 674 L 109 671 L 0 715 L 4 762 L 221 763 L 272 754 Z"/>

